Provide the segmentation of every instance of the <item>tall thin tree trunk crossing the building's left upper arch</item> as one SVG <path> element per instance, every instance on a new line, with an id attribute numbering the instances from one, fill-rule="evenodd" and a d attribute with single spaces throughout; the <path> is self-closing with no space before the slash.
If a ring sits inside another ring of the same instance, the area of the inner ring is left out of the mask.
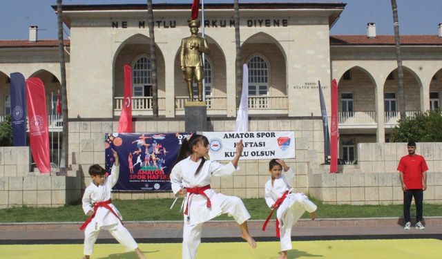
<path id="1" fill-rule="evenodd" d="M 151 46 L 152 64 L 152 110 L 153 117 L 158 117 L 158 86 L 157 86 L 157 57 L 155 55 L 155 34 L 153 32 L 152 0 L 147 0 L 147 20 L 149 26 L 149 38 Z"/>

